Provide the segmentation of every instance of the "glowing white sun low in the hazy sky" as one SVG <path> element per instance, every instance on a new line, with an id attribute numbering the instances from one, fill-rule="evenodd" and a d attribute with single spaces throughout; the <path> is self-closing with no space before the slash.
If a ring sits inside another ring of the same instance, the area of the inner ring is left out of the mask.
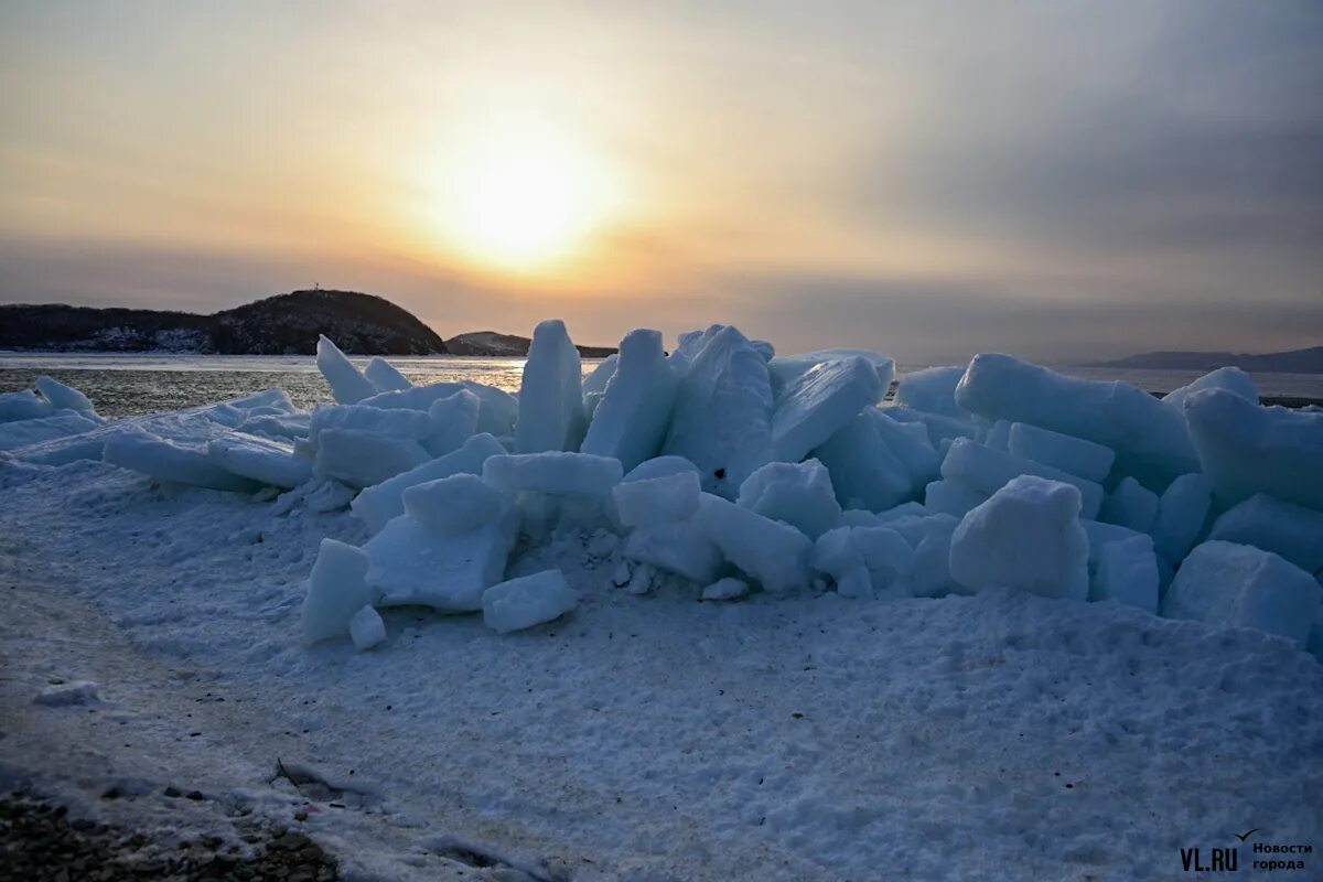
<path id="1" fill-rule="evenodd" d="M 572 257 L 614 201 L 601 157 L 533 124 L 484 130 L 454 155 L 446 179 L 447 238 L 470 258 L 516 272 Z"/>

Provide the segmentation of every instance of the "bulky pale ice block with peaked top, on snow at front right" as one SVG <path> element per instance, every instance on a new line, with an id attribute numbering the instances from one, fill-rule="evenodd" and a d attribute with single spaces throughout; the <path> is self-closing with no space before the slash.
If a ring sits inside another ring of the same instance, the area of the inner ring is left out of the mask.
<path id="1" fill-rule="evenodd" d="M 1080 491 L 1035 475 L 1011 480 L 955 528 L 951 578 L 974 591 L 1000 586 L 1088 598 L 1089 537 L 1080 525 Z"/>

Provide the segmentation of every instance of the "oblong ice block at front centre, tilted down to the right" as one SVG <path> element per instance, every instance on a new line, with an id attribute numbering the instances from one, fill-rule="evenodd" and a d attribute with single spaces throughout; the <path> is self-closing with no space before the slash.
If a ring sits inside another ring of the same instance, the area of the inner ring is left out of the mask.
<path id="1" fill-rule="evenodd" d="M 712 493 L 699 500 L 693 521 L 730 563 L 765 590 L 777 592 L 808 586 L 808 557 L 814 543 L 795 528 Z"/>

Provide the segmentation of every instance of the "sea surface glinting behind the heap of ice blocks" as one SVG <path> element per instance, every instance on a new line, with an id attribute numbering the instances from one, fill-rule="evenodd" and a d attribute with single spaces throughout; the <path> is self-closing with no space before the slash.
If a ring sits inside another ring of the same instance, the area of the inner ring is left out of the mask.
<path id="1" fill-rule="evenodd" d="M 353 358 L 363 366 L 366 358 Z M 524 358 L 459 358 L 450 356 L 392 356 L 390 364 L 415 383 L 474 380 L 519 391 Z M 583 373 L 599 360 L 585 358 Z M 897 376 L 927 365 L 901 365 Z M 1184 386 L 1204 372 L 1110 368 L 1058 368 L 1088 380 L 1125 380 L 1154 393 Z M 262 389 L 284 389 L 299 407 L 331 401 L 331 390 L 312 356 L 172 356 L 159 353 L 4 353 L 0 352 L 0 393 L 30 389 L 49 374 L 82 390 L 105 417 L 181 410 L 209 405 Z M 1323 374 L 1254 374 L 1267 397 L 1323 401 Z"/>

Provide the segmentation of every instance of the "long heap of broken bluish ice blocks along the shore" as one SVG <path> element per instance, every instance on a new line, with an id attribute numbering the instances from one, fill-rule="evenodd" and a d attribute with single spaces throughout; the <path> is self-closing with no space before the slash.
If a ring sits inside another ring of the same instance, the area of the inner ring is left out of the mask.
<path id="1" fill-rule="evenodd" d="M 77 391 L 0 397 L 7 456 L 105 459 L 161 481 L 349 504 L 370 534 L 327 540 L 310 640 L 385 637 L 377 610 L 482 612 L 500 632 L 579 599 L 564 574 L 509 578 L 529 547 L 605 549 L 632 594 L 705 600 L 1013 588 L 1254 627 L 1323 653 L 1323 414 L 1263 407 L 1213 372 L 1166 398 L 1009 356 L 901 378 L 872 352 L 778 357 L 728 325 L 634 331 L 583 377 L 560 321 L 517 395 L 414 386 L 323 337 L 335 405 L 271 390 L 106 423 Z"/>

